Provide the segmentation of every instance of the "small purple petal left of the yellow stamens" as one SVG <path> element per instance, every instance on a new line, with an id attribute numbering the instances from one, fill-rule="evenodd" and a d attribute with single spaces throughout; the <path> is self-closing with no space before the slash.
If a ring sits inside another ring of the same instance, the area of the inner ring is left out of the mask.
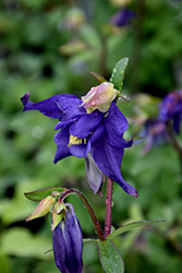
<path id="1" fill-rule="evenodd" d="M 54 143 L 58 145 L 58 147 L 53 163 L 57 163 L 62 158 L 71 155 L 70 149 L 68 146 L 69 138 L 70 138 L 69 127 L 63 128 L 54 135 Z"/>

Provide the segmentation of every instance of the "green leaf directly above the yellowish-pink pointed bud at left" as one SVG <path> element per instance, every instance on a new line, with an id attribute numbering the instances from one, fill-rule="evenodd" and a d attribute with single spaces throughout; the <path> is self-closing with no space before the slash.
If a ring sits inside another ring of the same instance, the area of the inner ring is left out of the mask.
<path id="1" fill-rule="evenodd" d="M 43 199 L 50 195 L 54 191 L 58 191 L 58 192 L 61 193 L 61 192 L 64 192 L 65 189 L 61 188 L 61 187 L 52 187 L 52 188 L 47 188 L 47 189 L 44 189 L 44 190 L 36 190 L 36 191 L 32 191 L 32 192 L 25 192 L 24 194 L 29 200 L 41 201 Z"/>

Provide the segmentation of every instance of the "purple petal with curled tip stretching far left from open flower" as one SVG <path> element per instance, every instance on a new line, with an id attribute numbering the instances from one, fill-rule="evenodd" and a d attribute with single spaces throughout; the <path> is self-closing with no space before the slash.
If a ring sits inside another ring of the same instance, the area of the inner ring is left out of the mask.
<path id="1" fill-rule="evenodd" d="M 24 111 L 27 110 L 39 110 L 41 114 L 44 114 L 47 117 L 59 119 L 61 116 L 61 110 L 57 106 L 58 99 L 66 99 L 69 100 L 72 98 L 73 95 L 70 94 L 61 94 L 56 95 L 52 97 L 49 97 L 45 100 L 41 100 L 39 103 L 33 103 L 29 100 L 29 93 L 27 92 L 22 98 L 22 103 L 24 105 Z"/>

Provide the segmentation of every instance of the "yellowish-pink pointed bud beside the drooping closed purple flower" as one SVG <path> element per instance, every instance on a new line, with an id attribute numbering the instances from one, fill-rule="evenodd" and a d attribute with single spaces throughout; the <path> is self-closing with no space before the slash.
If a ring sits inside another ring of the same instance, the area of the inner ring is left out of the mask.
<path id="1" fill-rule="evenodd" d="M 54 198 L 50 195 L 43 199 L 41 202 L 35 209 L 35 211 L 26 218 L 26 221 L 45 216 L 51 211 L 54 203 L 56 203 Z"/>

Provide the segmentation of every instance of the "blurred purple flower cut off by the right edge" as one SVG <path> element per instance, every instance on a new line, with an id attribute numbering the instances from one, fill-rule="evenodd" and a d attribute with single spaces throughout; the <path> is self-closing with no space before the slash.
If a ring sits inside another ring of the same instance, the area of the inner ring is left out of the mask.
<path id="1" fill-rule="evenodd" d="M 162 122 L 173 121 L 173 129 L 179 134 L 182 121 L 182 90 L 168 94 L 159 105 L 159 120 Z"/>

